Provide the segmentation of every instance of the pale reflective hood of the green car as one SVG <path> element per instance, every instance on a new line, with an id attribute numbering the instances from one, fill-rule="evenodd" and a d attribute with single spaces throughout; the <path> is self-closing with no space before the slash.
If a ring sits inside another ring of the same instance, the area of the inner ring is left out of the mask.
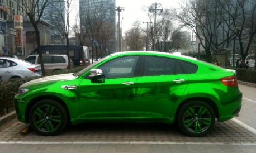
<path id="1" fill-rule="evenodd" d="M 72 80 L 75 78 L 77 78 L 77 76 L 74 76 L 73 73 L 46 76 L 44 78 L 31 80 L 30 82 L 22 84 L 21 87 L 27 87 L 27 86 L 31 86 L 31 85 L 39 85 L 39 84 L 44 84 L 44 83 L 51 83 L 51 82 L 56 82 L 59 80 Z"/>

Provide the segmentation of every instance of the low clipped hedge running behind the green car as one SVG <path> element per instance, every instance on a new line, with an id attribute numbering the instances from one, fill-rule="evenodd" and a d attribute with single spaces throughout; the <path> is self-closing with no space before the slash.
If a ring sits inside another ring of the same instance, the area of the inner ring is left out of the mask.
<path id="1" fill-rule="evenodd" d="M 75 73 L 82 70 L 83 68 L 84 67 L 78 67 L 71 70 L 62 70 L 62 71 L 58 71 L 57 73 L 47 74 L 47 75 Z M 237 71 L 238 80 L 241 80 L 244 82 L 256 83 L 256 70 L 249 70 L 249 69 L 235 69 L 235 70 Z M 10 79 L 6 82 L 0 83 L 0 117 L 15 110 L 14 96 L 18 92 L 18 88 L 20 87 L 20 85 L 36 78 L 39 78 L 39 77 Z"/>

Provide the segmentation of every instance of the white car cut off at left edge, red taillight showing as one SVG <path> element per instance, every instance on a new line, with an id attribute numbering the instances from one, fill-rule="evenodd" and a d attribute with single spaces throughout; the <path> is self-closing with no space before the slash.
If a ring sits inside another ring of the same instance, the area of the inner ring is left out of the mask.
<path id="1" fill-rule="evenodd" d="M 0 57 L 0 74 L 2 80 L 11 78 L 25 78 L 26 76 L 40 76 L 41 67 L 25 60 Z"/>

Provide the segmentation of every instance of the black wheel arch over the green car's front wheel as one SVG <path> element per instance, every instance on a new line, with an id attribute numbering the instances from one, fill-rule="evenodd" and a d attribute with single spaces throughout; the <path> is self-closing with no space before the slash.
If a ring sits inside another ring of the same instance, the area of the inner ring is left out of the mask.
<path id="1" fill-rule="evenodd" d="M 31 99 L 29 104 L 27 104 L 26 114 L 25 114 L 26 123 L 29 122 L 29 112 L 30 112 L 30 109 L 32 108 L 32 106 L 34 106 L 35 103 L 37 103 L 37 102 L 39 102 L 41 100 L 44 100 L 44 99 L 51 99 L 51 100 L 54 100 L 54 101 L 60 103 L 61 106 L 63 106 L 65 108 L 65 111 L 67 112 L 68 123 L 70 122 L 69 109 L 67 107 L 67 104 L 65 104 L 65 102 L 63 101 L 63 99 L 61 99 L 59 97 L 56 97 L 54 95 L 42 95 L 42 96 L 35 97 L 35 98 Z"/>

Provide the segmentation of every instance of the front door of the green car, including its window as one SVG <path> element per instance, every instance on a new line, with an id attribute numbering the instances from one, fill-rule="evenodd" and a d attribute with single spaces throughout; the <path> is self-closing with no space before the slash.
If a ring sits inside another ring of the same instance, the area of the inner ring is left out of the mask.
<path id="1" fill-rule="evenodd" d="M 139 56 L 124 56 L 103 63 L 104 78 L 85 78 L 79 85 L 81 118 L 124 118 L 136 116 L 129 112 L 135 99 L 136 64 Z"/>

